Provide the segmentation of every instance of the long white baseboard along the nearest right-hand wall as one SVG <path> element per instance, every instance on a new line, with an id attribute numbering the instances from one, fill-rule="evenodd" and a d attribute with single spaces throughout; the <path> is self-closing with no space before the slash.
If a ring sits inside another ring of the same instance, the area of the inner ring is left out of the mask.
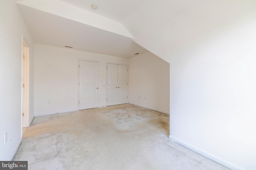
<path id="1" fill-rule="evenodd" d="M 198 154 L 201 154 L 201 155 L 205 156 L 206 158 L 210 158 L 211 160 L 214 160 L 215 162 L 218 162 L 219 164 L 222 164 L 222 165 L 224 165 L 224 166 L 226 166 L 226 167 L 228 167 L 228 168 L 230 168 L 232 170 L 245 170 L 245 169 L 243 169 L 243 168 L 241 168 L 239 166 L 236 166 L 236 165 L 234 165 L 234 164 L 232 164 L 232 163 L 230 163 L 230 162 L 228 162 L 226 160 L 223 160 L 221 158 L 218 158 L 217 156 L 214 156 L 214 155 L 212 155 L 212 154 L 210 154 L 208 152 L 205 152 L 204 150 L 201 150 L 201 149 L 199 149 L 197 147 L 194 147 L 194 146 L 192 146 L 192 145 L 190 145 L 190 144 L 188 144 L 188 143 L 186 143 L 184 141 L 181 141 L 180 139 L 172 137 L 171 135 L 169 136 L 169 139 L 171 141 L 174 141 L 174 142 L 176 142 L 176 143 L 178 143 L 178 144 L 180 144 L 180 145 L 190 149 L 190 150 L 193 150 L 194 152 L 197 152 Z"/>

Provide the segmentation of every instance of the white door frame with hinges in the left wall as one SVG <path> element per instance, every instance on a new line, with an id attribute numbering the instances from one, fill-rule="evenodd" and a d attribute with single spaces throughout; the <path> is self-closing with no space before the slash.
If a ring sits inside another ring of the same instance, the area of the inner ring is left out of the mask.
<path id="1" fill-rule="evenodd" d="M 23 59 L 23 55 L 25 58 Z M 30 116 L 30 102 L 29 102 L 29 46 L 26 43 L 24 36 L 22 35 L 22 82 L 21 82 L 21 125 L 22 127 L 28 127 L 29 123 L 29 116 Z M 25 63 L 24 63 L 25 62 Z M 23 64 L 25 68 L 23 67 Z M 24 88 L 23 88 L 24 84 Z M 23 99 L 23 90 L 24 90 L 24 99 Z M 22 113 L 24 113 L 24 122 Z M 22 132 L 21 132 L 22 133 Z"/>

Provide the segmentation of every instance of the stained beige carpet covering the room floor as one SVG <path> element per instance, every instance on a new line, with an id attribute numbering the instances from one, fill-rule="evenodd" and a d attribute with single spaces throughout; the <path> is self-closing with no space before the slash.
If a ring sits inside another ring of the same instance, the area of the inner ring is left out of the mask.
<path id="1" fill-rule="evenodd" d="M 29 170 L 227 170 L 168 139 L 169 115 L 124 104 L 35 117 L 14 160 Z"/>

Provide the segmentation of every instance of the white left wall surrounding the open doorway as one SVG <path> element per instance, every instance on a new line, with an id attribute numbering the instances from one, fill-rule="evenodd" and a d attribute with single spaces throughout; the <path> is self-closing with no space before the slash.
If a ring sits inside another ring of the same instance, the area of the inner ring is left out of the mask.
<path id="1" fill-rule="evenodd" d="M 30 46 L 30 120 L 33 119 L 34 47 L 14 0 L 0 5 L 0 160 L 12 160 L 22 140 L 22 34 Z M 4 144 L 4 134 L 8 141 Z"/>

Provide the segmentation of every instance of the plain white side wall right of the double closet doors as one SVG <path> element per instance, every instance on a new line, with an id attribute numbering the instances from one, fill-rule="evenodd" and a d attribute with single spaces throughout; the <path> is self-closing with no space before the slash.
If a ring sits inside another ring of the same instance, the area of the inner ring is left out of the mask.
<path id="1" fill-rule="evenodd" d="M 129 103 L 169 114 L 169 63 L 150 52 L 130 58 Z"/>

